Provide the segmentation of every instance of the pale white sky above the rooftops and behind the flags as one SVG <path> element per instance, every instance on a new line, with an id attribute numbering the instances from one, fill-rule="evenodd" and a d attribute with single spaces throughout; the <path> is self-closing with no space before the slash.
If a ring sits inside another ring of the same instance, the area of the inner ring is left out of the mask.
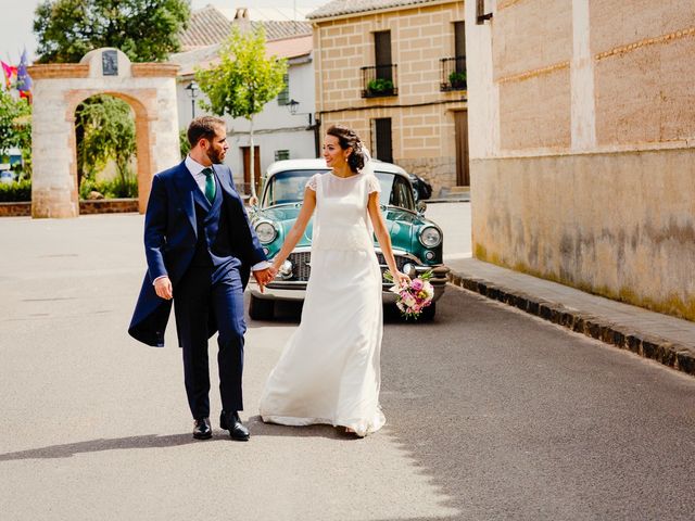
<path id="1" fill-rule="evenodd" d="M 312 10 L 330 0 L 193 0 L 192 8 L 200 9 L 208 3 L 219 8 L 293 8 Z M 22 50 L 26 47 L 29 61 L 36 58 L 36 38 L 33 33 L 34 10 L 38 0 L 0 0 L 0 60 L 16 65 Z"/>

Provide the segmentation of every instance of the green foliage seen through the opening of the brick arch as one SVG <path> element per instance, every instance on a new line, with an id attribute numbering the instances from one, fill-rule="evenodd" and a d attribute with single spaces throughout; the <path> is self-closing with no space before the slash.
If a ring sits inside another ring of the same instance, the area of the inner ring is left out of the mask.
<path id="1" fill-rule="evenodd" d="M 81 173 L 78 183 L 83 176 L 93 181 L 96 173 L 113 158 L 122 186 L 127 186 L 129 164 L 136 151 L 130 105 L 111 96 L 93 96 L 75 112 L 75 129 L 83 136 L 77 151 L 78 171 Z"/>

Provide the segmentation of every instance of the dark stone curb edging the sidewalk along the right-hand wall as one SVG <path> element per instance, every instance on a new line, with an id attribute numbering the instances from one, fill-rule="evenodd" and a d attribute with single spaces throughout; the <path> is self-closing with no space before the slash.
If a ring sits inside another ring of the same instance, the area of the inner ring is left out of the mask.
<path id="1" fill-rule="evenodd" d="M 454 285 L 514 306 L 577 333 L 583 333 L 620 350 L 630 351 L 678 371 L 695 376 L 695 353 L 684 345 L 618 326 L 601 317 L 570 309 L 563 304 L 538 298 L 484 279 L 450 272 L 448 280 Z"/>

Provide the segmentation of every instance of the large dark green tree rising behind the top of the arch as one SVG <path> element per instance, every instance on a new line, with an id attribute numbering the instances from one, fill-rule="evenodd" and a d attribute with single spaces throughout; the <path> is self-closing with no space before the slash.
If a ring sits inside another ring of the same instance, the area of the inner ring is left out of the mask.
<path id="1" fill-rule="evenodd" d="M 78 62 L 100 47 L 163 61 L 180 49 L 189 17 L 187 0 L 43 0 L 34 18 L 38 62 Z"/>

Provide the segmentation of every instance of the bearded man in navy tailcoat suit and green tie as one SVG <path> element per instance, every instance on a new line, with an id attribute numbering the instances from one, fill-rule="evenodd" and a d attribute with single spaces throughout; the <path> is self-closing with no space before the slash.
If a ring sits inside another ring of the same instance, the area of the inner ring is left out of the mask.
<path id="1" fill-rule="evenodd" d="M 144 217 L 148 272 L 128 332 L 163 346 L 174 301 L 193 437 L 206 440 L 212 437 L 207 339 L 218 331 L 220 427 L 247 441 L 249 430 L 238 412 L 243 409 L 243 290 L 250 270 L 262 289 L 275 274 L 223 164 L 229 149 L 224 119 L 193 119 L 188 140 L 186 160 L 152 179 Z"/>

